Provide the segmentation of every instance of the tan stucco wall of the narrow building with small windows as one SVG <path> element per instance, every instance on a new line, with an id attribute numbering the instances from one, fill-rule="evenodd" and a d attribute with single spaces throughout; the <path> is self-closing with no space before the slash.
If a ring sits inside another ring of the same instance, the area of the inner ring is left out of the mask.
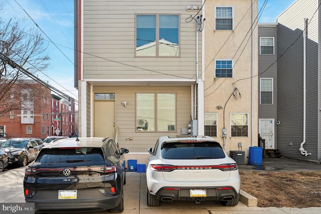
<path id="1" fill-rule="evenodd" d="M 233 31 L 215 31 L 215 7 L 233 8 Z M 216 138 L 223 145 L 221 130 L 225 122 L 228 137 L 226 138 L 225 151 L 239 150 L 238 143 L 242 143 L 242 149 L 248 152 L 252 143 L 257 146 L 257 27 L 251 35 L 251 0 L 216 0 L 206 1 L 205 16 L 207 25 L 205 27 L 205 50 L 204 69 L 204 112 L 218 114 L 218 137 Z M 257 15 L 257 2 L 254 18 Z M 210 24 L 209 24 L 210 23 Z M 252 37 L 254 36 L 254 49 L 252 49 Z M 254 58 L 252 64 L 252 51 Z M 215 78 L 215 60 L 232 60 L 233 78 Z M 254 67 L 254 83 L 252 84 L 252 66 Z M 235 83 L 235 85 L 233 84 Z M 237 99 L 232 95 L 233 87 L 237 87 L 235 93 Z M 252 112 L 252 90 L 254 91 L 254 111 Z M 240 92 L 241 97 L 239 97 Z M 217 110 L 216 106 L 221 105 L 224 110 Z M 230 137 L 230 113 L 248 113 L 248 137 Z M 253 123 L 251 123 L 253 114 Z M 225 120 L 224 120 L 225 119 Z M 253 127 L 253 133 L 251 131 Z M 252 138 L 253 134 L 253 138 Z"/>

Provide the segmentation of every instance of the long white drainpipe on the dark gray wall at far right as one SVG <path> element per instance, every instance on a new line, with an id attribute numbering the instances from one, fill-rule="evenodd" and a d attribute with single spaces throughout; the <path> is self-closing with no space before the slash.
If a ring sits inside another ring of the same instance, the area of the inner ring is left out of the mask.
<path id="1" fill-rule="evenodd" d="M 310 155 L 311 153 L 307 153 L 307 151 L 303 148 L 303 144 L 305 144 L 305 119 L 306 119 L 306 35 L 307 35 L 307 19 L 304 18 L 303 24 L 303 142 L 300 145 L 299 151 L 301 155 Z"/>

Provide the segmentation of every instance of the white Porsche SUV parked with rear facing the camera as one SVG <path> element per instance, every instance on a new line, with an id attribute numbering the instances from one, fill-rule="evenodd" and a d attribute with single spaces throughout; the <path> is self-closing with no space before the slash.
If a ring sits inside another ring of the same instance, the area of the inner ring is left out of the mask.
<path id="1" fill-rule="evenodd" d="M 238 166 L 213 138 L 161 137 L 148 152 L 148 206 L 173 200 L 238 204 L 241 186 Z"/>

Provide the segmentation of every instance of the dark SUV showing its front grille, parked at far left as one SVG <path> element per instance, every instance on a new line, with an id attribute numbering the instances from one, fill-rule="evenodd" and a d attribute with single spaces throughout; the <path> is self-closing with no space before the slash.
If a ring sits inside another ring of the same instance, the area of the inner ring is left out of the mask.
<path id="1" fill-rule="evenodd" d="M 35 160 L 42 147 L 31 138 L 10 138 L 0 146 L 0 150 L 8 154 L 9 163 L 27 166 Z"/>

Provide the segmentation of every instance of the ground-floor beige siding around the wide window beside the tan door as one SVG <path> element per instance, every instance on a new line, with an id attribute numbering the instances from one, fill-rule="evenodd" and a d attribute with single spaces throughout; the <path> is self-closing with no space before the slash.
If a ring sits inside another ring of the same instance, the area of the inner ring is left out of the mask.
<path id="1" fill-rule="evenodd" d="M 118 143 L 130 152 L 146 152 L 158 137 L 181 135 L 187 128 L 191 117 L 191 86 L 104 86 L 94 85 L 93 92 L 116 93 L 116 126 L 119 128 Z M 176 93 L 176 130 L 169 132 L 135 132 L 135 94 L 137 92 L 174 92 Z M 128 101 L 126 107 L 121 103 Z M 133 140 L 129 140 L 133 138 Z M 127 139 L 127 140 L 126 140 Z"/>

